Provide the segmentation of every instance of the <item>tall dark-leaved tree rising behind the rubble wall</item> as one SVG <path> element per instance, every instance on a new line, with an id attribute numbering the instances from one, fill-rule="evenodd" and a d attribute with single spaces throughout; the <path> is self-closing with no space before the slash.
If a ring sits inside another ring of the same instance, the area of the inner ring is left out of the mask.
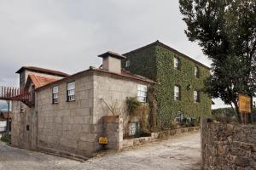
<path id="1" fill-rule="evenodd" d="M 256 91 L 256 0 L 179 0 L 189 41 L 212 60 L 206 90 L 235 106 L 238 94 Z"/>

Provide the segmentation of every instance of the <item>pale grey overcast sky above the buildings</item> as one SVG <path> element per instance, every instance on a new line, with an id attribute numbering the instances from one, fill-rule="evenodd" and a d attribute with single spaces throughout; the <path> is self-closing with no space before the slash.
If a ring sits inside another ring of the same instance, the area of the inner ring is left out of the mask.
<path id="1" fill-rule="evenodd" d="M 24 65 L 73 74 L 156 40 L 211 65 L 185 36 L 178 0 L 1 0 L 0 23 L 0 86 L 17 87 Z"/>

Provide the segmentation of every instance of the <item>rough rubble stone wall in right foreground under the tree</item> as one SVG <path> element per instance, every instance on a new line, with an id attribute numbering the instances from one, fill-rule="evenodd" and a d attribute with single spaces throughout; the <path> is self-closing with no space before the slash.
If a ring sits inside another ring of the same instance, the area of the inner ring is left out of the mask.
<path id="1" fill-rule="evenodd" d="M 256 169 L 256 124 L 201 122 L 202 167 Z"/>

